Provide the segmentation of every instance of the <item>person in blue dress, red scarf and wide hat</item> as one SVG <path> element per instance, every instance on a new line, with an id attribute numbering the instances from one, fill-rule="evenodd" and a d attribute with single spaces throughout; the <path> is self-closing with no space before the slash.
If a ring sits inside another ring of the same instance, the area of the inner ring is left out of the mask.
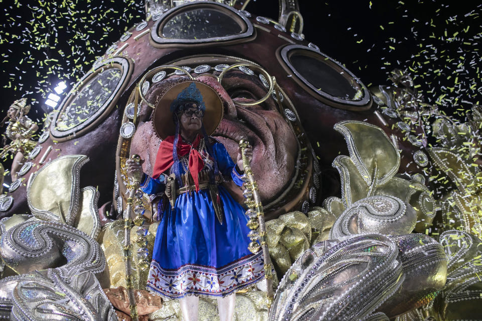
<path id="1" fill-rule="evenodd" d="M 223 187 L 231 179 L 242 185 L 240 150 L 234 164 L 224 145 L 208 136 L 222 115 L 211 87 L 182 81 L 168 88 L 153 113 L 162 139 L 153 175 L 144 174 L 141 184 L 156 200 L 160 221 L 147 287 L 181 298 L 189 321 L 197 320 L 198 295 L 217 296 L 221 321 L 232 320 L 235 291 L 264 277 L 262 251 L 248 250 L 245 210 Z M 139 163 L 127 165 L 131 174 L 142 171 Z"/>

